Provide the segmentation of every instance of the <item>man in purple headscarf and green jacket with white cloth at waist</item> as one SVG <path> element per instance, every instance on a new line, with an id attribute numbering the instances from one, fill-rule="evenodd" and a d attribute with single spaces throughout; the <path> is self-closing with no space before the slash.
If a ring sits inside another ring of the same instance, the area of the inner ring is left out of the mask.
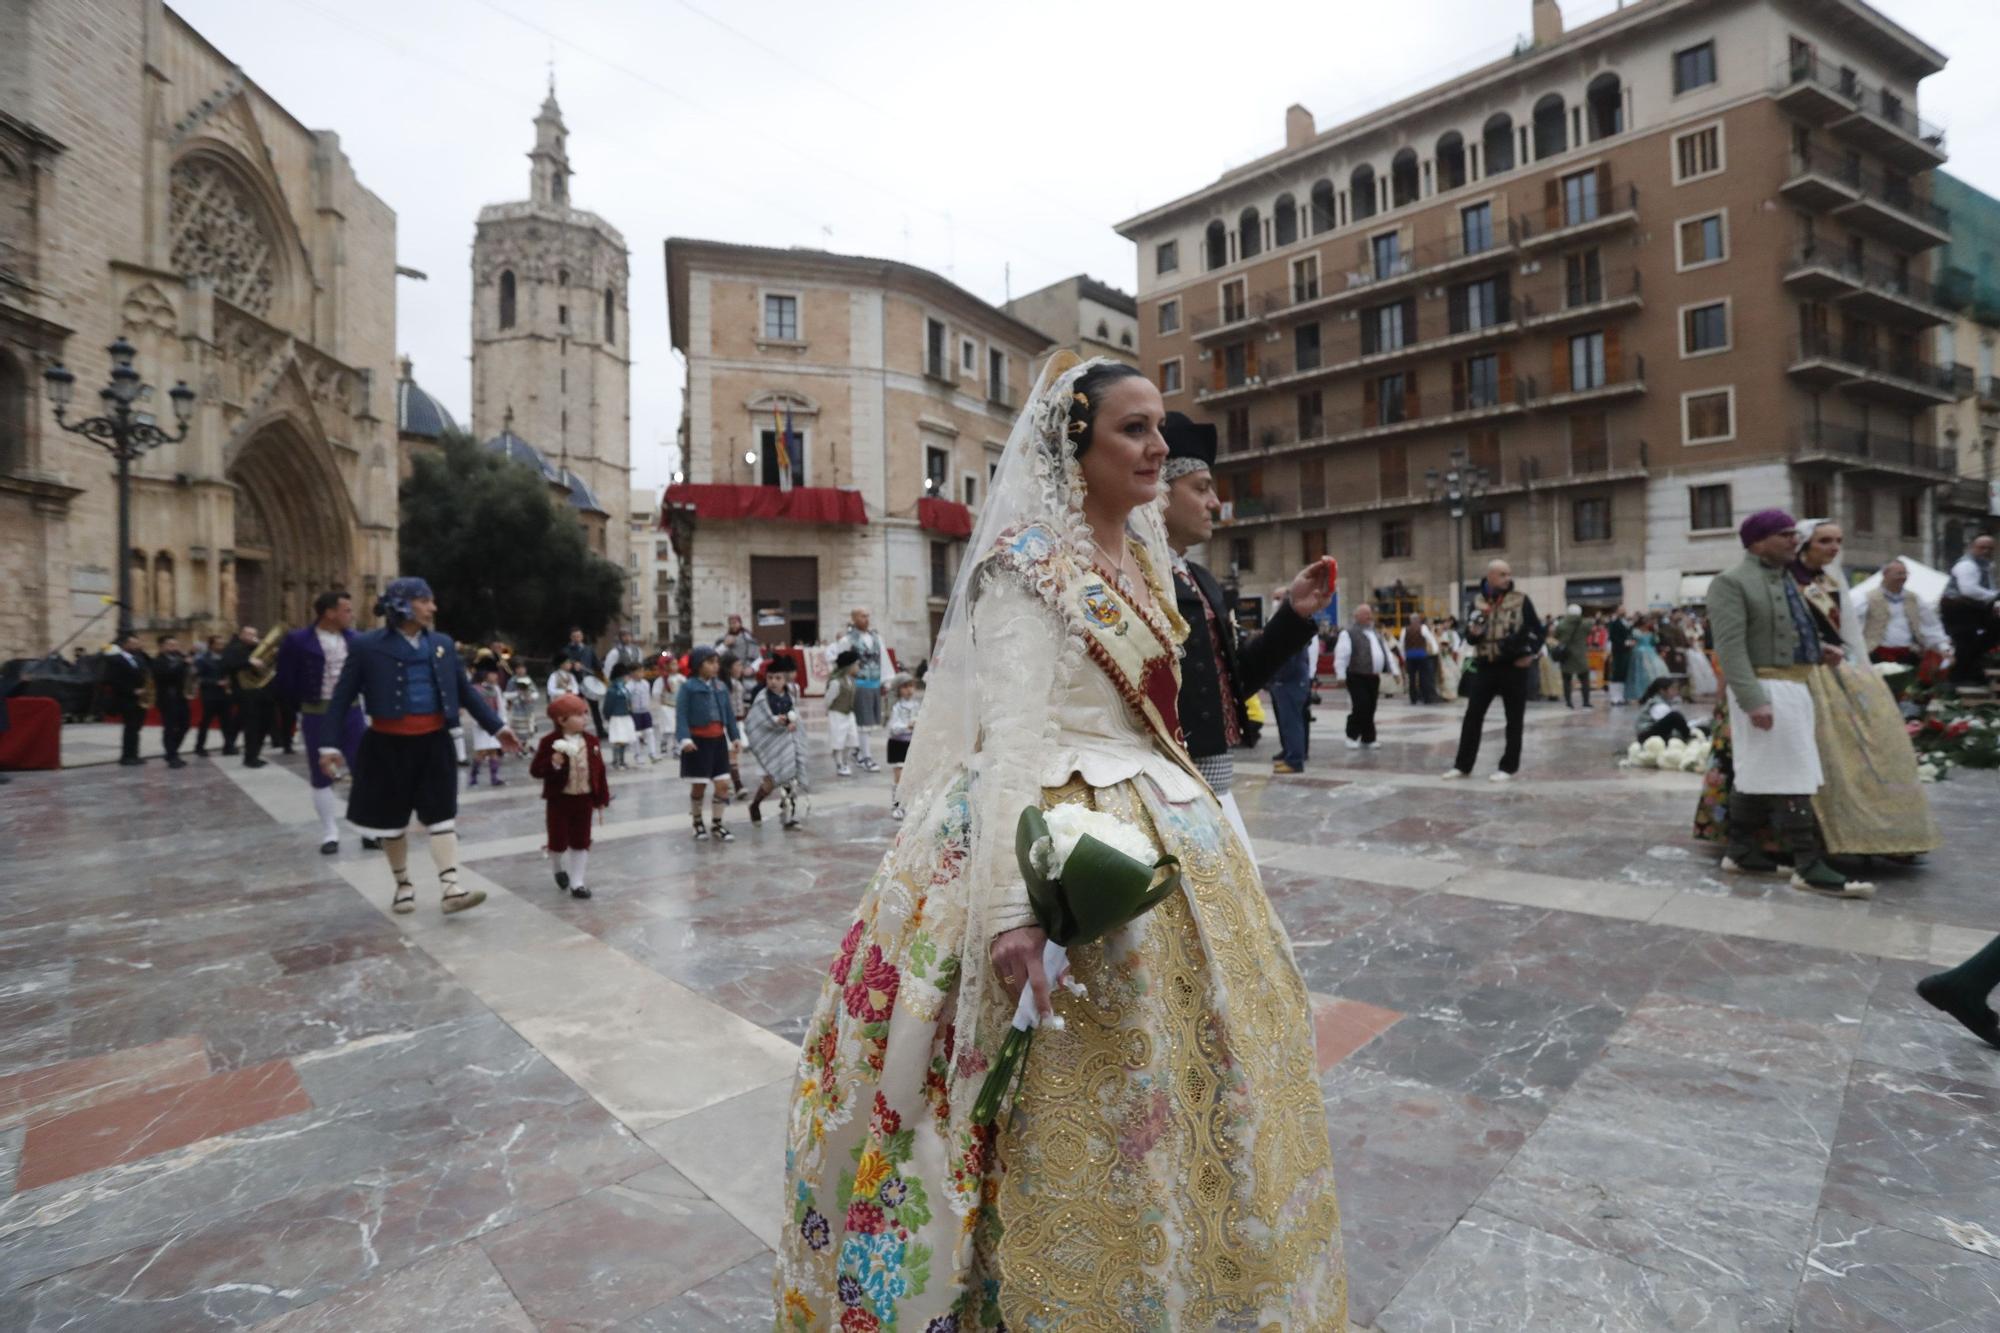
<path id="1" fill-rule="evenodd" d="M 1766 829 L 1792 853 L 1792 885 L 1844 893 L 1848 877 L 1826 863 L 1812 797 L 1826 781 L 1814 739 L 1810 673 L 1840 660 L 1826 646 L 1792 578 L 1798 522 L 1782 508 L 1742 520 L 1744 558 L 1708 584 L 1708 620 L 1730 709 L 1728 843 L 1722 869 L 1772 875 L 1760 851 Z"/>

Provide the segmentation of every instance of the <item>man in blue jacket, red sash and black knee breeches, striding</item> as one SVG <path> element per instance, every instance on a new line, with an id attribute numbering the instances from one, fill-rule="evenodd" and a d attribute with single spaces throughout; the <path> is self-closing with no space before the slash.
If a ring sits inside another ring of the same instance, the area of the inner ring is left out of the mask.
<path id="1" fill-rule="evenodd" d="M 422 578 L 396 578 L 376 602 L 388 620 L 356 634 L 348 660 L 326 701 L 330 717 L 346 717 L 354 701 L 368 707 L 368 733 L 354 755 L 354 795 L 348 823 L 364 837 L 382 839 L 396 877 L 396 913 L 416 911 L 410 885 L 410 817 L 430 831 L 430 861 L 438 867 L 446 913 L 486 901 L 484 889 L 458 887 L 458 753 L 452 727 L 464 709 L 500 749 L 520 751 L 520 739 L 472 689 L 450 634 L 432 628 L 438 602 Z M 340 771 L 340 755 L 320 755 L 320 771 Z"/>

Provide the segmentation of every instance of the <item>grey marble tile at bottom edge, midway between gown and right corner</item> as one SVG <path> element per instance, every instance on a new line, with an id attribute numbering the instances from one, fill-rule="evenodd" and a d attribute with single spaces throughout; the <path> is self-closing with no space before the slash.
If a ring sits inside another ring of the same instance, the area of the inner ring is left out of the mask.
<path id="1" fill-rule="evenodd" d="M 1472 1209 L 1376 1319 L 1380 1333 L 1788 1333 L 1786 1309 Z"/>

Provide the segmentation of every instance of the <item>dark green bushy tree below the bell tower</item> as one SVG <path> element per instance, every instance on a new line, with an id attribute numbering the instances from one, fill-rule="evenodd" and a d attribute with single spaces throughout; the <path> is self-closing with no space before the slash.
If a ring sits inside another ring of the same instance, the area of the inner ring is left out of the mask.
<path id="1" fill-rule="evenodd" d="M 452 432 L 402 482 L 402 572 L 438 594 L 438 628 L 548 650 L 572 624 L 600 634 L 624 602 L 624 570 L 590 550 L 584 524 L 532 466 Z"/>

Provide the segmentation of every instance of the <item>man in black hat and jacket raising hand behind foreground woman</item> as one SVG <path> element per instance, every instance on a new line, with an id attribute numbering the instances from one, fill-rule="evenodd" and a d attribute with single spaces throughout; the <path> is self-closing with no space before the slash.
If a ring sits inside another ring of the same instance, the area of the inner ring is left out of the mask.
<path id="1" fill-rule="evenodd" d="M 1180 658 L 1180 729 L 1194 767 L 1208 779 L 1236 837 L 1248 847 L 1250 831 L 1230 791 L 1248 701 L 1312 638 L 1312 616 L 1326 606 L 1330 590 L 1296 604 L 1286 600 L 1272 612 L 1262 634 L 1238 638 L 1236 616 L 1222 600 L 1222 584 L 1208 566 L 1188 558 L 1192 546 L 1214 534 L 1216 514 L 1222 512 L 1210 470 L 1216 462 L 1216 428 L 1168 412 L 1160 434 L 1166 436 L 1160 482 L 1166 486 L 1166 542 L 1174 552 L 1174 604 L 1188 622 Z"/>

